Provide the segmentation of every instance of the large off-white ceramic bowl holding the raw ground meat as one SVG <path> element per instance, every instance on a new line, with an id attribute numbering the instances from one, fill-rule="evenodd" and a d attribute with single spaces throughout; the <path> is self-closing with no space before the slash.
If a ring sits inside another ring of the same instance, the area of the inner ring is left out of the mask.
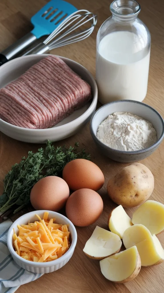
<path id="1" fill-rule="evenodd" d="M 39 62 L 46 57 L 47 54 L 41 55 L 28 55 L 13 59 L 0 67 L 0 88 L 6 84 L 17 79 L 32 65 Z M 97 104 L 97 85 L 92 74 L 79 63 L 70 60 L 65 57 L 58 56 L 65 63 L 70 66 L 82 79 L 87 81 L 92 88 L 92 100 L 84 107 L 74 111 L 67 118 L 59 122 L 54 127 L 48 129 L 27 129 L 12 125 L 4 120 L 0 119 L 0 131 L 14 139 L 22 142 L 31 143 L 46 143 L 50 141 L 56 142 L 61 139 L 65 139 L 75 134 L 80 128 L 82 128 L 92 117 L 96 109 Z"/>

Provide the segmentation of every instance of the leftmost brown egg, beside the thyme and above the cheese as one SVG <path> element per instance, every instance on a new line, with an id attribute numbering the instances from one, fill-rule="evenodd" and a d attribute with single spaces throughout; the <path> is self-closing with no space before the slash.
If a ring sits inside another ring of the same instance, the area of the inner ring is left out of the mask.
<path id="1" fill-rule="evenodd" d="M 33 186 L 30 201 L 34 209 L 57 212 L 65 205 L 69 194 L 68 184 L 62 178 L 47 176 Z"/>

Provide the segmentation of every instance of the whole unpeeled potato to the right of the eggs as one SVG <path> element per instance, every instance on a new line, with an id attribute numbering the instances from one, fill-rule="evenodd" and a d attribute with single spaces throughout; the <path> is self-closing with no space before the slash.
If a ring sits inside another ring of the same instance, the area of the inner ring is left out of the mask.
<path id="1" fill-rule="evenodd" d="M 136 207 L 149 198 L 154 189 L 154 177 L 143 164 L 132 163 L 109 179 L 107 193 L 122 207 Z"/>

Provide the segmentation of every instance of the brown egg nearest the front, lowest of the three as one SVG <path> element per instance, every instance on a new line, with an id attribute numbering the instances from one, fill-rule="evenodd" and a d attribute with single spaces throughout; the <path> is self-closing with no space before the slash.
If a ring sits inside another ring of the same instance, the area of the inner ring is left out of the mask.
<path id="1" fill-rule="evenodd" d="M 76 190 L 67 200 L 65 211 L 68 219 L 80 227 L 93 224 L 103 211 L 103 200 L 94 190 Z"/>

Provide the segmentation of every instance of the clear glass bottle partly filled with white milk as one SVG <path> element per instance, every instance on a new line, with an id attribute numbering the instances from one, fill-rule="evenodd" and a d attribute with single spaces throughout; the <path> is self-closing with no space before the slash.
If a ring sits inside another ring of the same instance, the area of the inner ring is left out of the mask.
<path id="1" fill-rule="evenodd" d="M 96 81 L 99 101 L 143 101 L 147 93 L 151 36 L 137 18 L 135 0 L 115 0 L 112 16 L 97 33 Z"/>

